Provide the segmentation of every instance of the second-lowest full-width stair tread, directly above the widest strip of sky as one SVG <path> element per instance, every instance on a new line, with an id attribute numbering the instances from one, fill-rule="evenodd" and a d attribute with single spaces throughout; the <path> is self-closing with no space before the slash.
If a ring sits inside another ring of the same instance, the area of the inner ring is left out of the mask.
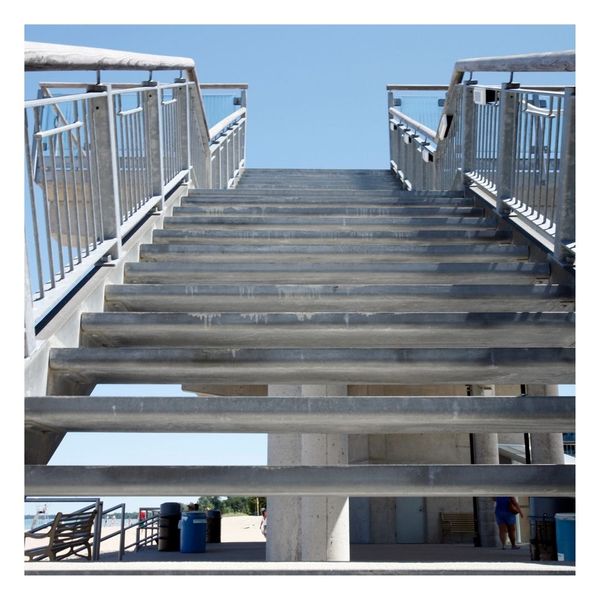
<path id="1" fill-rule="evenodd" d="M 53 432 L 432 433 L 575 431 L 573 396 L 100 397 L 25 399 Z"/>

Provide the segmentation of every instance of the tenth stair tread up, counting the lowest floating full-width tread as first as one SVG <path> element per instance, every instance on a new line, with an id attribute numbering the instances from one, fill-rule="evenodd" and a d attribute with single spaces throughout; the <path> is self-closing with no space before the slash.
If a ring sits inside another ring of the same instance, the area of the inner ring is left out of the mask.
<path id="1" fill-rule="evenodd" d="M 322 217 L 481 217 L 483 209 L 472 206 L 334 206 L 334 205 L 289 205 L 253 204 L 253 205 L 205 205 L 185 203 L 173 209 L 173 216 L 208 217 L 269 217 L 280 215 Z"/>

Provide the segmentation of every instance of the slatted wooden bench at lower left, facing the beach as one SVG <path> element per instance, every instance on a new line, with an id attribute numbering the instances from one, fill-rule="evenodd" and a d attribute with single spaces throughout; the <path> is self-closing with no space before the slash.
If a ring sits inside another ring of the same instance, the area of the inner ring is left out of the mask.
<path id="1" fill-rule="evenodd" d="M 35 548 L 26 548 L 25 556 L 29 560 L 62 560 L 74 554 L 87 560 L 92 560 L 92 545 L 90 540 L 94 533 L 92 527 L 96 511 L 85 513 L 62 514 L 57 513 L 54 521 L 46 525 L 39 532 L 25 532 L 25 539 L 48 538 L 48 544 Z"/>

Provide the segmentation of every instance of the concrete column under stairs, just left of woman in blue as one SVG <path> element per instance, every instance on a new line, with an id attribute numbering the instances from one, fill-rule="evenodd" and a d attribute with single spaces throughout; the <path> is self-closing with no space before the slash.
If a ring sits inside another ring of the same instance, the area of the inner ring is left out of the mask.
<path id="1" fill-rule="evenodd" d="M 474 396 L 495 396 L 496 390 L 493 385 L 474 385 Z M 475 464 L 497 465 L 498 458 L 498 434 L 497 433 L 474 433 L 473 434 L 473 459 Z M 477 523 L 480 544 L 485 548 L 494 548 L 498 545 L 498 534 L 496 528 L 496 517 L 494 514 L 495 502 L 491 498 L 476 498 Z"/>

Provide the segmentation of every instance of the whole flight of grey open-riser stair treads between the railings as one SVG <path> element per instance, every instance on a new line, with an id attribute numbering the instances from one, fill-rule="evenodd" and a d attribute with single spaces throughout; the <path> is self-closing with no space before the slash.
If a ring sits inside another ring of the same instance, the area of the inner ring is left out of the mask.
<path id="1" fill-rule="evenodd" d="M 402 191 L 388 171 L 248 170 L 235 190 L 190 191 L 126 265 L 123 284 L 107 286 L 105 311 L 83 315 L 80 347 L 51 351 L 49 372 L 48 396 L 26 399 L 29 433 L 572 430 L 572 398 L 87 394 L 97 383 L 572 383 L 573 285 L 463 194 Z M 571 467 L 501 467 L 28 465 L 26 490 L 574 489 Z"/>

